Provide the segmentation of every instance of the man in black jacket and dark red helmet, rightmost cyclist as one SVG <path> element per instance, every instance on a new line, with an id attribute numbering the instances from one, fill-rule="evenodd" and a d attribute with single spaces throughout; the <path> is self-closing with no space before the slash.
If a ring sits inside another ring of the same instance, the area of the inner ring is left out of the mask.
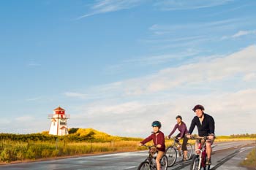
<path id="1" fill-rule="evenodd" d="M 197 126 L 198 135 L 203 137 L 207 136 L 206 141 L 206 165 L 211 165 L 211 144 L 214 143 L 214 130 L 215 123 L 214 118 L 204 112 L 204 107 L 200 104 L 195 105 L 192 109 L 196 116 L 193 118 L 192 123 L 189 128 L 188 138 L 191 138 L 191 134 L 194 131 L 195 125 Z M 197 149 L 197 144 L 195 144 L 195 150 Z"/>

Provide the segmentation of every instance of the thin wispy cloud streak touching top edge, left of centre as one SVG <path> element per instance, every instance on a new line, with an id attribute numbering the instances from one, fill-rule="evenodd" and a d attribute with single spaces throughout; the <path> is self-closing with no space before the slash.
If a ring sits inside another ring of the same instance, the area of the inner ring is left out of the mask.
<path id="1" fill-rule="evenodd" d="M 78 17 L 77 20 L 89 17 L 91 15 L 115 12 L 121 9 L 130 9 L 138 6 L 138 4 L 141 4 L 143 1 L 144 0 L 99 0 L 91 6 L 91 12 Z"/>

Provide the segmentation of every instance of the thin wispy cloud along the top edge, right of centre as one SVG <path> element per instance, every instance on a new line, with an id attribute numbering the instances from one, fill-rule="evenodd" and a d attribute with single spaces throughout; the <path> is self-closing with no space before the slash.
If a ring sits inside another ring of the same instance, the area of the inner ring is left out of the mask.
<path id="1" fill-rule="evenodd" d="M 184 9 L 200 9 L 208 7 L 216 7 L 219 5 L 227 4 L 233 2 L 233 0 L 164 0 L 159 1 L 154 4 L 154 6 L 159 7 L 162 10 L 184 10 Z"/>

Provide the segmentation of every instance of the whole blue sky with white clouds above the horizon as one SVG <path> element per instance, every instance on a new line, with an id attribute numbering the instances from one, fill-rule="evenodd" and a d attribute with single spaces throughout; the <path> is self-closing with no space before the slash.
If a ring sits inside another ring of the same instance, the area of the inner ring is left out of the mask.
<path id="1" fill-rule="evenodd" d="M 215 134 L 256 134 L 256 1 L 0 2 L 0 133 L 146 137 L 202 104 Z M 178 133 L 178 131 L 176 131 Z M 176 133 L 176 134 L 177 134 Z M 197 133 L 197 130 L 194 130 Z"/>

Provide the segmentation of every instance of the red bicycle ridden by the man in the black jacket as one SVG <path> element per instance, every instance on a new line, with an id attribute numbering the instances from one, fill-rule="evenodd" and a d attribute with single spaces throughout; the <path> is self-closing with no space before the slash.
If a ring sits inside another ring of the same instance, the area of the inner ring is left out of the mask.
<path id="1" fill-rule="evenodd" d="M 192 163 L 190 166 L 190 170 L 200 170 L 203 168 L 204 170 L 209 170 L 211 165 L 206 165 L 206 140 L 208 139 L 207 136 L 204 137 L 192 137 L 192 139 L 196 139 L 198 143 L 198 149 L 195 152 L 199 152 L 195 154 L 192 158 Z M 201 143 L 204 140 L 203 144 Z"/>

